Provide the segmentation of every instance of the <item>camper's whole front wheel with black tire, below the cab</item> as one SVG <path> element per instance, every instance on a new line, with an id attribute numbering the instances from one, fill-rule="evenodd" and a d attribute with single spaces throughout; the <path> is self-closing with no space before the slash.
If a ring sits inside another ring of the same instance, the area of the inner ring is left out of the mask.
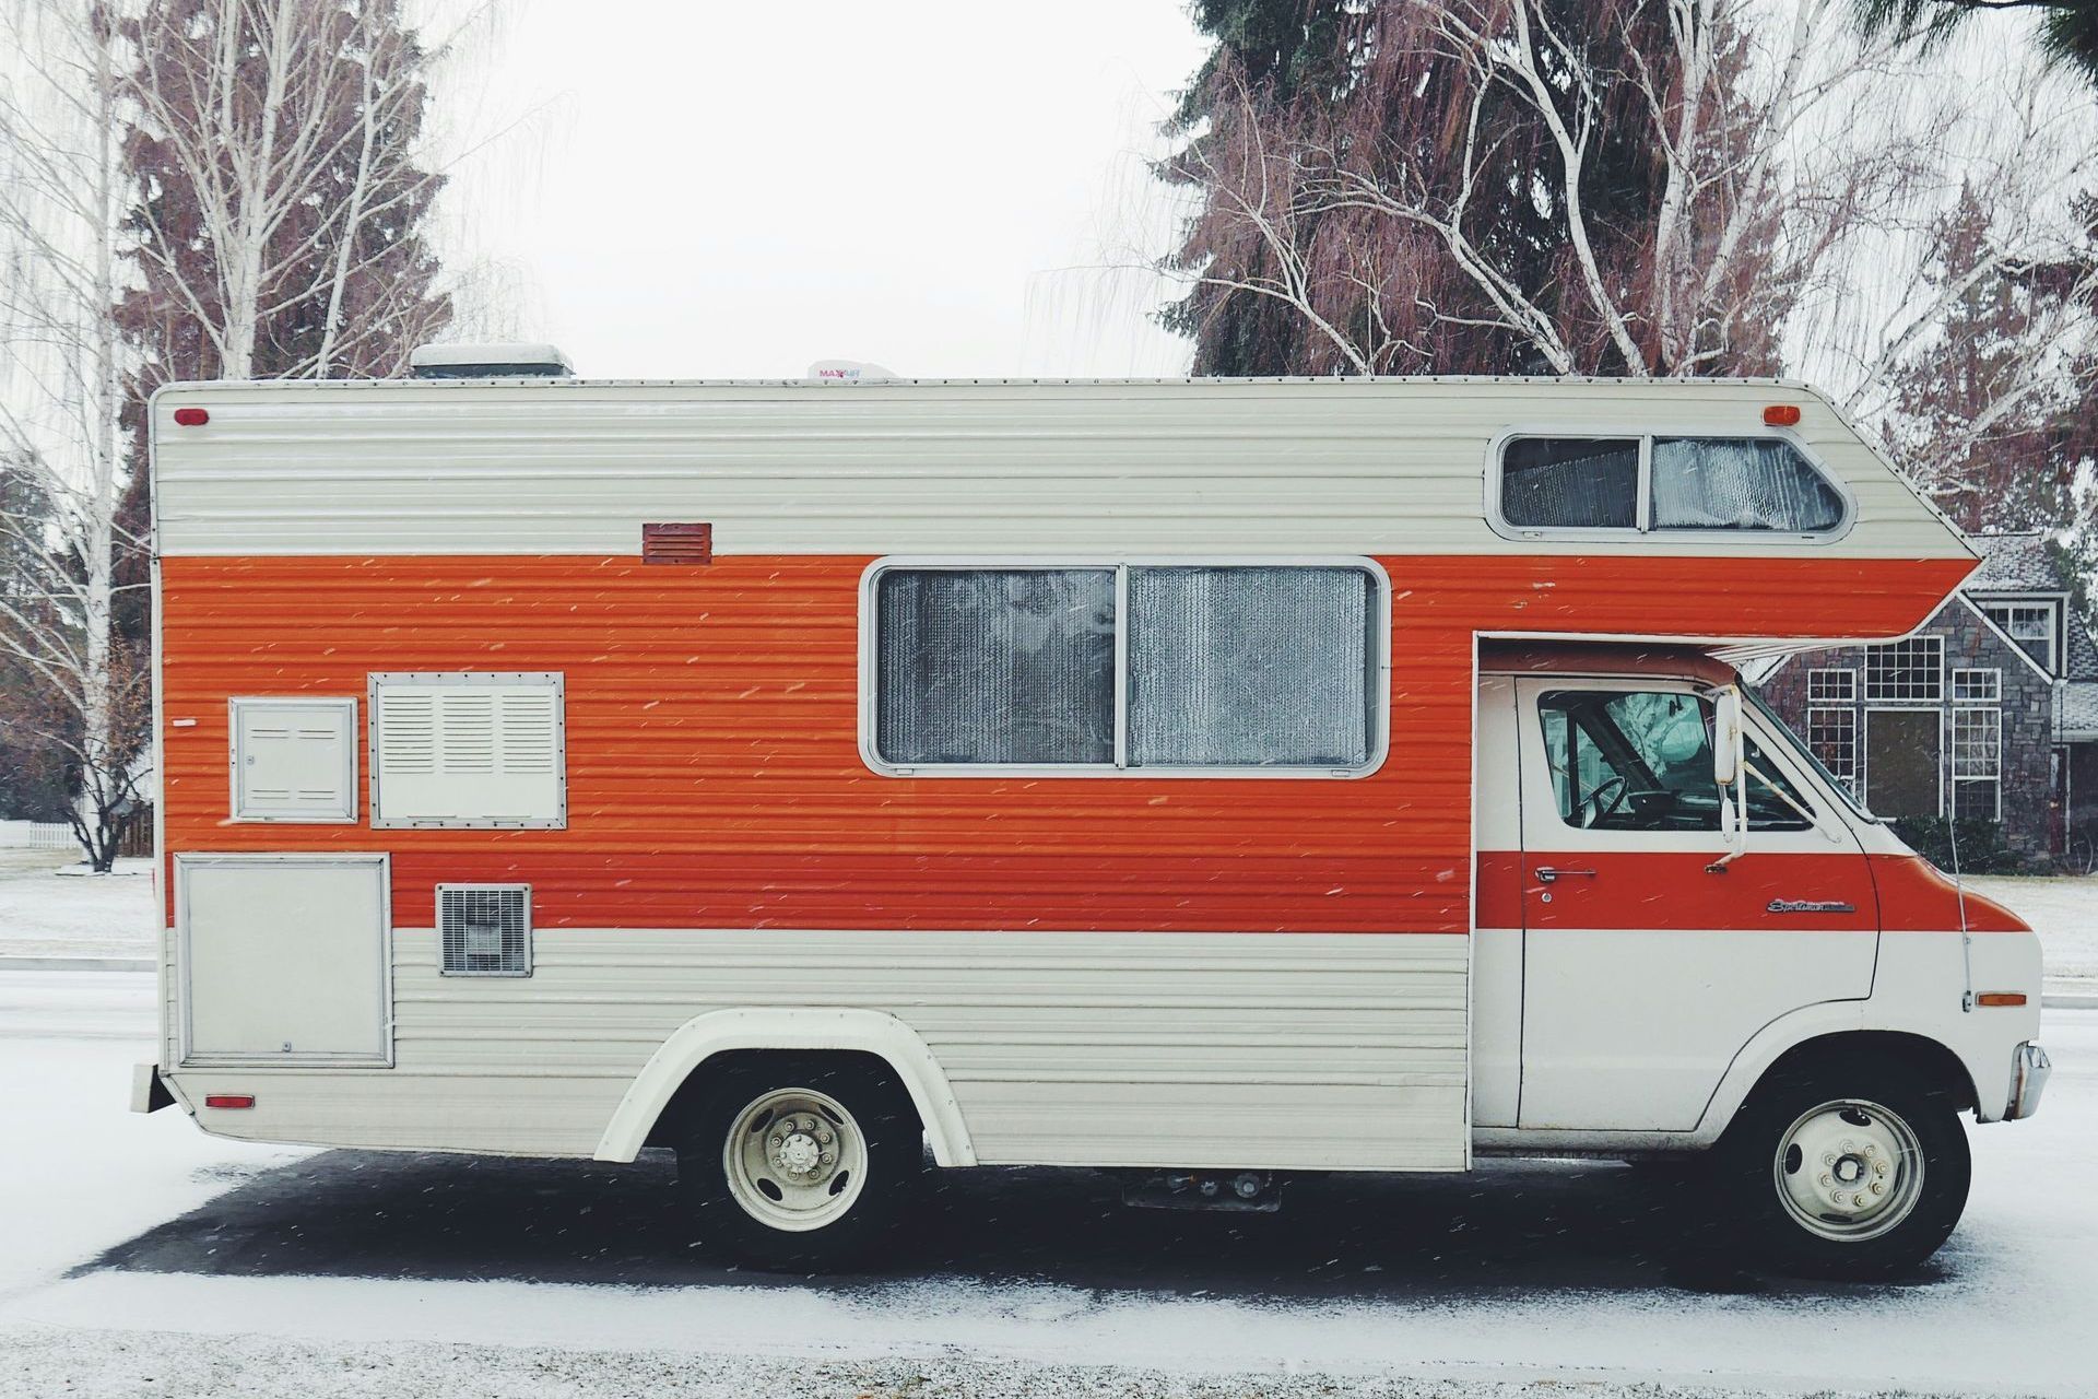
<path id="1" fill-rule="evenodd" d="M 1972 1160 L 1960 1110 L 1953 1091 L 1892 1057 L 1848 1055 L 1827 1066 L 1779 1070 L 1756 1086 L 1712 1147 L 1714 1191 L 1706 1208 L 1731 1212 L 1729 1250 L 1771 1271 L 1842 1282 L 1909 1273 L 1951 1237 L 1966 1208 Z M 1813 1162 L 1798 1149 L 1798 1141 L 1815 1133 L 1804 1126 L 1781 1160 L 1794 1126 L 1808 1120 L 1834 1133 L 1855 1128 L 1857 1137 L 1844 1135 L 1823 1147 L 1834 1162 Z M 1859 1152 L 1871 1141 L 1903 1137 L 1913 1145 L 1876 1177 L 1886 1154 Z M 1842 1141 L 1855 1141 L 1857 1149 L 1844 1152 Z M 1920 1179 L 1907 1185 L 1913 1166 Z M 1853 1170 L 1857 1185 L 1878 1179 L 1892 1191 L 1884 1214 L 1850 1219 L 1832 1210 L 1817 1214 L 1819 1200 L 1787 1204 L 1794 1189 L 1813 1193 L 1821 1181 L 1821 1189 L 1842 1189 L 1844 1172 Z"/>

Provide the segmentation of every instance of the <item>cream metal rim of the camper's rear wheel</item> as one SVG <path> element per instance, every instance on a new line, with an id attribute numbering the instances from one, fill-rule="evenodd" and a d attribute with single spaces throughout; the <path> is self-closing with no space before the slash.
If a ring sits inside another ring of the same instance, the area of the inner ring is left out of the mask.
<path id="1" fill-rule="evenodd" d="M 814 1089 L 774 1089 L 728 1124 L 728 1196 L 770 1229 L 804 1233 L 841 1219 L 866 1187 L 866 1137 Z"/>

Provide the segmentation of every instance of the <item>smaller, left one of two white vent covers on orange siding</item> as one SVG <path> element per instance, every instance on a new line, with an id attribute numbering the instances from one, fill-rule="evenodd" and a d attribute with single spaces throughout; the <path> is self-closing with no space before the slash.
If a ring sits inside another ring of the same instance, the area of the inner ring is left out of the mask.
<path id="1" fill-rule="evenodd" d="M 227 701 L 233 820 L 357 820 L 357 701 Z"/>

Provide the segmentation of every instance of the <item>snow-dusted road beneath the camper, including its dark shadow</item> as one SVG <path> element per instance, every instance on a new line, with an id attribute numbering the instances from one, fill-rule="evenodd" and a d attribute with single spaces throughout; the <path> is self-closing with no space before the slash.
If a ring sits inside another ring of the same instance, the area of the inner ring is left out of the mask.
<path id="1" fill-rule="evenodd" d="M 124 1114 L 149 1024 L 151 977 L 0 973 L 0 1395 L 2098 1391 L 2092 1011 L 2050 1013 L 2046 1112 L 1976 1128 L 1930 1275 L 1737 1294 L 1680 1286 L 1664 1183 L 1613 1164 L 1301 1187 L 1278 1217 L 955 1172 L 896 1275 L 753 1277 L 663 1227 L 665 1162 Z"/>

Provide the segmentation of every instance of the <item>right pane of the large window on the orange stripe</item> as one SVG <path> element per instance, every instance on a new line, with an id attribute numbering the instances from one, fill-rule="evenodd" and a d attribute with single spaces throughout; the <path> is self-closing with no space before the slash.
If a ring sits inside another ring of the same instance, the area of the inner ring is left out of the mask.
<path id="1" fill-rule="evenodd" d="M 1362 568 L 1131 568 L 1129 763 L 1368 761 L 1370 587 Z"/>

